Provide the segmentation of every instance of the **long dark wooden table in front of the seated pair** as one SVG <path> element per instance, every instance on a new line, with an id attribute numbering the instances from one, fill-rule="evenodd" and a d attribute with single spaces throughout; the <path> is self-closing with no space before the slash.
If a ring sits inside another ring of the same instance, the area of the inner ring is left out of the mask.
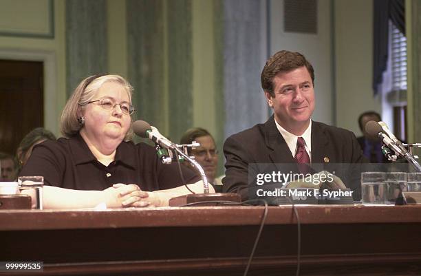
<path id="1" fill-rule="evenodd" d="M 296 206 L 300 275 L 421 275 L 421 206 Z M 263 206 L 0 211 L 0 261 L 28 275 L 242 275 Z M 248 275 L 295 275 L 292 206 L 270 206 Z M 12 275 L 24 275 L 13 273 Z"/>

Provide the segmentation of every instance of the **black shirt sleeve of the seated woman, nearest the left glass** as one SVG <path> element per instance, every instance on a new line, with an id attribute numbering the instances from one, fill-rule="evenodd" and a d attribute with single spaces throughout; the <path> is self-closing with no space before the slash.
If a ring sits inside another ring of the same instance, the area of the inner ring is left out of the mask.
<path id="1" fill-rule="evenodd" d="M 43 176 L 44 184 L 61 187 L 65 158 L 56 141 L 36 145 L 19 176 Z"/>

